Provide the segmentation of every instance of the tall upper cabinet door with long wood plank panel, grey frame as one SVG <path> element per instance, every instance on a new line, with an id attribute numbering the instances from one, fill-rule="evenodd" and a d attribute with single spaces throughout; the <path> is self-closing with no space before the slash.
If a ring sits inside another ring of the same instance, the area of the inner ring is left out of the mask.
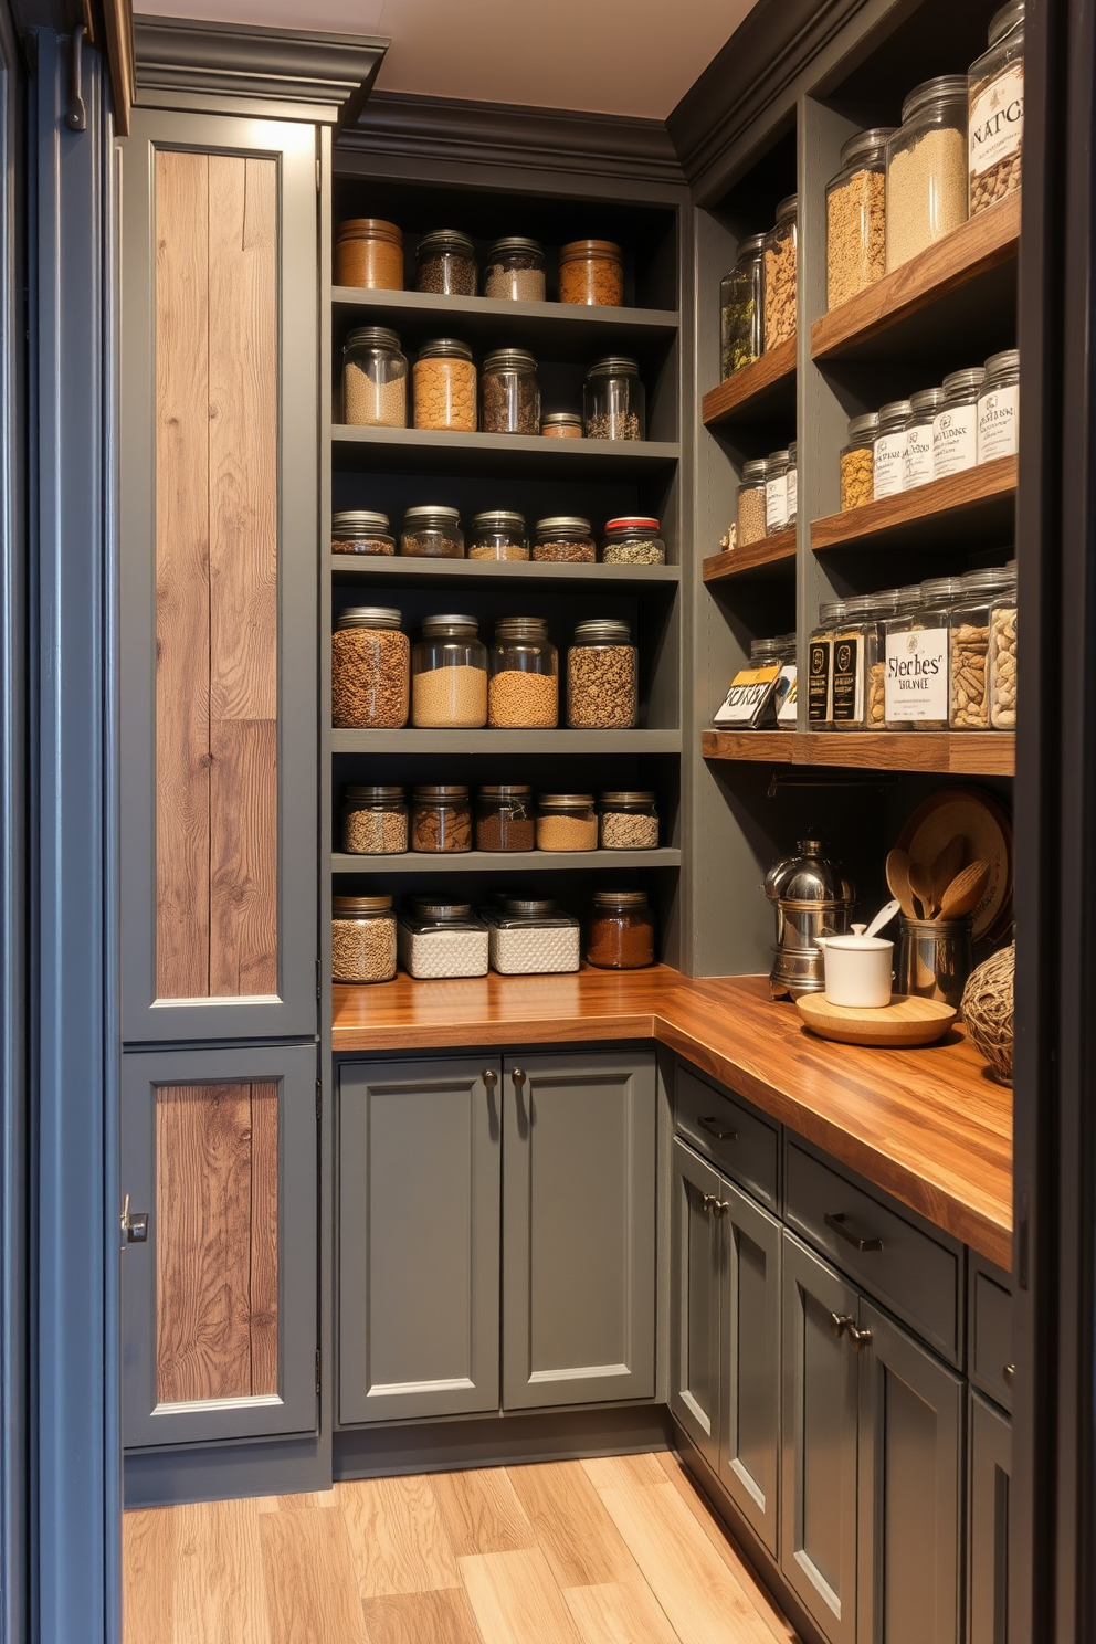
<path id="1" fill-rule="evenodd" d="M 317 1019 L 309 125 L 136 110 L 123 166 L 127 1042 Z"/>

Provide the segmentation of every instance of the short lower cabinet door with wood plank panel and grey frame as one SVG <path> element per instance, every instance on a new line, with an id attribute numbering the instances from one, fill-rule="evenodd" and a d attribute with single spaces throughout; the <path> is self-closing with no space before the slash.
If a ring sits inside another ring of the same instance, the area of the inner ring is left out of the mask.
<path id="1" fill-rule="evenodd" d="M 127 1447 L 315 1430 L 315 1075 L 312 1044 L 123 1057 Z"/>

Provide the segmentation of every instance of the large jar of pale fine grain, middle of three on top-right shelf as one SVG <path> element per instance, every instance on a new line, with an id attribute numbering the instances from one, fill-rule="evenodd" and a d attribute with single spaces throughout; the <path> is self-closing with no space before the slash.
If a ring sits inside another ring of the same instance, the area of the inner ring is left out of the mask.
<path id="1" fill-rule="evenodd" d="M 966 76 L 915 85 L 887 140 L 887 273 L 966 222 Z"/>

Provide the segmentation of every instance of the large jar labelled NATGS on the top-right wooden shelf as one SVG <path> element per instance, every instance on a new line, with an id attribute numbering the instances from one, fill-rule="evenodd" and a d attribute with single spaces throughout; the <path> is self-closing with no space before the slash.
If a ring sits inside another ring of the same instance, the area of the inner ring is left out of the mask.
<path id="1" fill-rule="evenodd" d="M 1020 186 L 1024 146 L 1024 0 L 989 20 L 989 49 L 971 62 L 968 169 L 971 217 Z"/>

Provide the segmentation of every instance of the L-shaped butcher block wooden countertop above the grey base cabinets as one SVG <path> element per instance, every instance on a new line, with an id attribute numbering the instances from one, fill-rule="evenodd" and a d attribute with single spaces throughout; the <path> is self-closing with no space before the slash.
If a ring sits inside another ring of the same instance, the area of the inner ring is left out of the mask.
<path id="1" fill-rule="evenodd" d="M 657 1039 L 1001 1268 L 1012 1266 L 1012 1092 L 961 1029 L 912 1051 L 830 1044 L 766 977 L 665 965 L 337 986 L 334 1047 L 440 1051 Z"/>

